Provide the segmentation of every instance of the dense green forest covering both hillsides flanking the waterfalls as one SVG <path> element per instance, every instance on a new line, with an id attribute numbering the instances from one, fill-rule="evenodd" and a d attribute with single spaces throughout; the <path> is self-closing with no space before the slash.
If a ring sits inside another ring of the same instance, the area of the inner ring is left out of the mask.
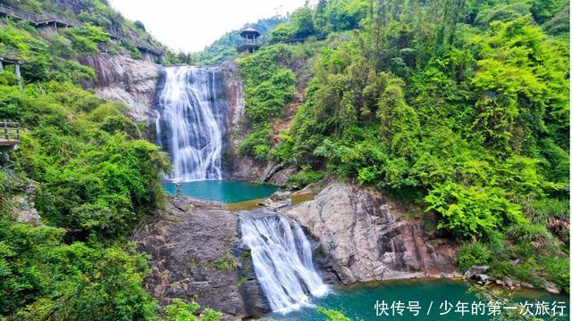
<path id="1" fill-rule="evenodd" d="M 0 171 L 0 320 L 195 319 L 196 303 L 160 308 L 146 292 L 148 256 L 130 243 L 164 207 L 169 159 L 122 103 L 89 89 L 96 74 L 78 62 L 162 45 L 104 0 L 6 3 L 85 24 L 46 33 L 0 21 L 0 50 L 26 60 L 23 90 L 12 67 L 0 71 L 0 119 L 22 128 Z M 568 292 L 568 18 L 563 0 L 320 0 L 248 24 L 268 44 L 237 60 L 240 152 L 297 166 L 291 186 L 339 177 L 416 204 L 428 229 L 460 244 L 461 272 L 487 264 Z M 280 43 L 291 38 L 307 40 Z M 231 32 L 163 62 L 220 63 L 239 56 L 237 41 Z M 13 215 L 29 185 L 44 225 Z"/>

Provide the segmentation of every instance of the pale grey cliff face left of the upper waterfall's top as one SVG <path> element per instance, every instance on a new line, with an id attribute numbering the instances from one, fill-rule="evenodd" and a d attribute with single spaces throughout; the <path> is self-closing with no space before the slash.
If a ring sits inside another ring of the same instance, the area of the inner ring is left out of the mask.
<path id="1" fill-rule="evenodd" d="M 161 67 L 153 62 L 133 60 L 126 55 L 98 53 L 80 58 L 83 65 L 96 70 L 96 94 L 106 100 L 121 101 L 127 114 L 136 121 L 152 124 L 153 105 Z"/>

